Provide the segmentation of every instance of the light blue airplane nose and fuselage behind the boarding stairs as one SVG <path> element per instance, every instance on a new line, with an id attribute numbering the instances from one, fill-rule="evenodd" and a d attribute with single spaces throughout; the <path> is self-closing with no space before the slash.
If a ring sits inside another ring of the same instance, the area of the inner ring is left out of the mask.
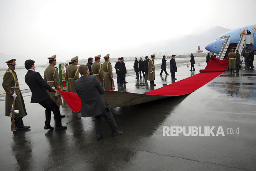
<path id="1" fill-rule="evenodd" d="M 224 34 L 221 34 L 216 40 L 214 40 L 213 42 L 209 43 L 205 49 L 213 52 L 215 54 L 219 54 L 222 48 L 222 45 L 225 41 L 225 38 L 227 36 L 230 37 L 230 42 L 229 44 L 232 43 L 238 43 L 239 39 L 240 39 L 240 34 L 243 30 L 249 30 L 251 31 L 251 42 L 250 44 L 247 44 L 247 40 L 246 40 L 246 46 L 248 47 L 248 49 L 250 48 L 251 50 L 256 51 L 256 42 L 254 39 L 255 33 L 256 33 L 256 24 L 254 25 L 250 25 L 250 26 L 245 26 L 245 27 L 240 27 L 234 30 L 230 30 Z M 235 48 L 234 48 L 235 49 Z M 242 52 L 245 50 L 245 47 L 242 49 Z M 239 52 L 241 54 L 241 52 Z"/>

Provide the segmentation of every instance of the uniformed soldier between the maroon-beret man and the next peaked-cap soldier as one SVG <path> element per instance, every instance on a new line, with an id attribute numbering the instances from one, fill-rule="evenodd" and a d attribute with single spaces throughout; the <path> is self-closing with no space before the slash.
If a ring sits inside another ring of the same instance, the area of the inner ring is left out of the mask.
<path id="1" fill-rule="evenodd" d="M 101 55 L 97 55 L 94 57 L 95 62 L 92 64 L 92 74 L 96 75 L 98 78 L 99 82 L 101 83 L 102 87 L 104 88 L 104 70 L 101 66 Z"/>

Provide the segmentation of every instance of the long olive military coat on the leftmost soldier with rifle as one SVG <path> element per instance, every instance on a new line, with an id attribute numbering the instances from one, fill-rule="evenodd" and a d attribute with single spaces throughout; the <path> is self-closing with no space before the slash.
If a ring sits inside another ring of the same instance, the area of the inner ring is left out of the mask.
<path id="1" fill-rule="evenodd" d="M 2 86 L 6 92 L 5 95 L 5 116 L 10 116 L 12 103 L 13 103 L 13 97 L 14 94 L 14 86 L 16 83 L 16 89 L 15 93 L 17 95 L 14 110 L 19 110 L 19 114 L 14 114 L 15 117 L 24 117 L 27 115 L 24 100 L 21 94 L 21 91 L 19 89 L 19 82 L 17 78 L 17 74 L 15 71 L 12 70 L 6 70 L 3 77 L 3 83 Z M 18 88 L 17 88 L 18 87 Z"/>

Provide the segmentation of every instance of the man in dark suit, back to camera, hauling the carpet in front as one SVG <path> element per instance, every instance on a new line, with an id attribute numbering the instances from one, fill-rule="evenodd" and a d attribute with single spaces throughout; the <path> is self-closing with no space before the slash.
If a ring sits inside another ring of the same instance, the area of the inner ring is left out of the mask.
<path id="1" fill-rule="evenodd" d="M 120 59 L 121 60 L 121 59 Z M 79 66 L 81 77 L 75 81 L 75 89 L 81 98 L 82 117 L 95 117 L 97 139 L 101 139 L 101 117 L 104 117 L 112 130 L 112 137 L 121 135 L 123 131 L 117 129 L 116 121 L 101 94 L 105 92 L 99 80 L 89 75 L 86 65 Z"/>

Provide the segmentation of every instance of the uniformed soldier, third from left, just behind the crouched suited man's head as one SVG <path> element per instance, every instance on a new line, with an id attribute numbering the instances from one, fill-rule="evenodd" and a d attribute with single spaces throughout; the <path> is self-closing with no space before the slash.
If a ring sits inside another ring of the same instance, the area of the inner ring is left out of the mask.
<path id="1" fill-rule="evenodd" d="M 75 81 L 79 78 L 78 72 L 78 57 L 71 59 L 72 64 L 67 67 L 66 80 L 67 80 L 67 91 L 76 93 L 75 90 Z"/>

